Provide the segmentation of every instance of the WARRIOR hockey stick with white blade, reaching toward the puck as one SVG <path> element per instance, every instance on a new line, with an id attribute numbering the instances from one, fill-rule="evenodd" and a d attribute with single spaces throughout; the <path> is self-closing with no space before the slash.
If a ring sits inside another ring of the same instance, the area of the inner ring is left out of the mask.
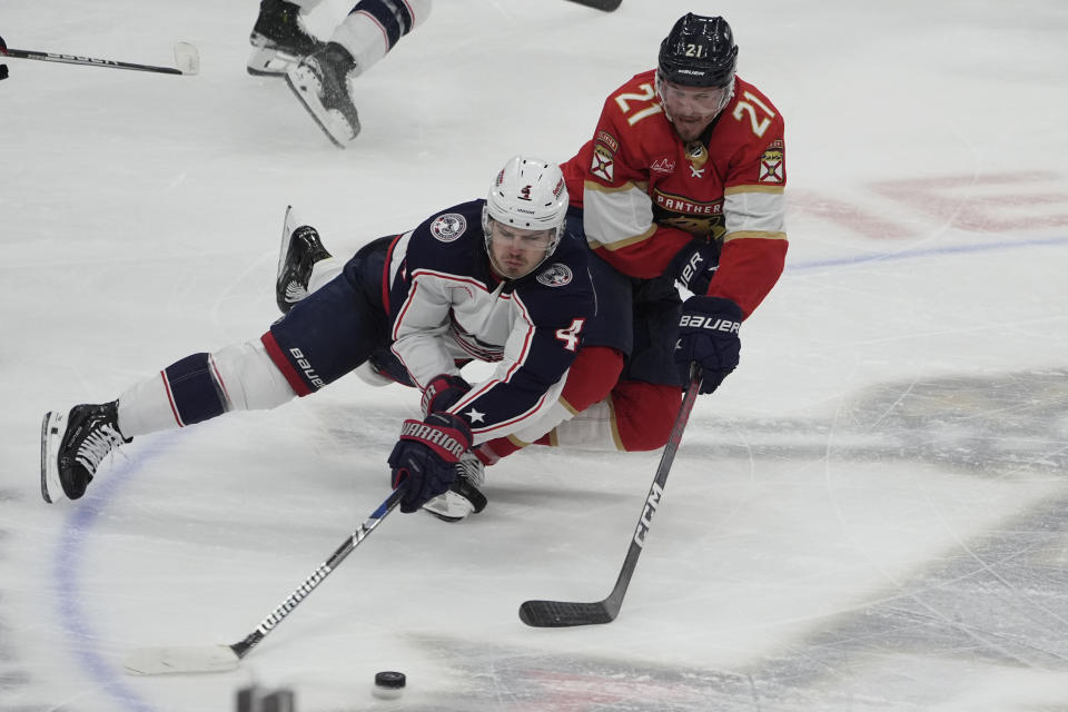
<path id="1" fill-rule="evenodd" d="M 289 615 L 308 594 L 315 591 L 323 581 L 340 565 L 345 557 L 354 548 L 367 538 L 375 531 L 382 521 L 386 518 L 404 494 L 404 487 L 397 487 L 389 493 L 385 502 L 378 505 L 363 524 L 356 527 L 356 531 L 345 540 L 337 551 L 330 554 L 330 557 L 319 564 L 319 567 L 310 576 L 305 578 L 296 591 L 289 594 L 289 597 L 270 612 L 255 631 L 245 636 L 239 643 L 233 645 L 192 645 L 185 647 L 141 647 L 134 651 L 127 657 L 123 666 L 126 672 L 131 675 L 169 675 L 169 674 L 189 674 L 204 672 L 227 672 L 236 670 L 243 657 L 248 654 L 267 636 L 275 627 Z"/>

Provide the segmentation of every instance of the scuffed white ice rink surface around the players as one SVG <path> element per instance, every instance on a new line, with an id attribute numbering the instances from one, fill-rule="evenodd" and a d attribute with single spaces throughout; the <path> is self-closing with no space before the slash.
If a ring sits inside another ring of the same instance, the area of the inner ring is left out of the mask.
<path id="1" fill-rule="evenodd" d="M 256 3 L 3 0 L 0 710 L 1068 710 L 1068 6 L 448 0 L 358 80 L 333 147 L 246 75 Z M 241 7 L 238 7 L 241 6 Z M 312 18 L 326 32 L 346 10 Z M 234 643 L 385 497 L 413 392 L 355 378 L 138 438 L 46 505 L 42 414 L 115 398 L 276 318 L 286 205 L 335 254 L 563 160 L 688 10 L 722 13 L 787 121 L 788 268 L 700 399 L 623 611 L 654 454 L 528 449 L 490 506 L 396 514 L 237 672 L 130 678 L 145 645 Z M 372 678 L 400 670 L 400 700 Z"/>

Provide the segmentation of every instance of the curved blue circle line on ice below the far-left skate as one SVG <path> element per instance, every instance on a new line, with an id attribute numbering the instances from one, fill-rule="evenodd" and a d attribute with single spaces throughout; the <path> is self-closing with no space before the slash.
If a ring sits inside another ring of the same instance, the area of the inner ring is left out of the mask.
<path id="1" fill-rule="evenodd" d="M 156 443 L 156 445 L 161 446 L 162 443 Z M 75 503 L 73 511 L 67 516 L 52 564 L 60 624 L 70 641 L 71 652 L 78 657 L 81 669 L 91 680 L 121 703 L 122 710 L 134 712 L 156 712 L 156 708 L 137 694 L 126 682 L 125 675 L 100 653 L 96 643 L 100 640 L 100 635 L 89 624 L 89 616 L 82 607 L 86 596 L 80 590 L 80 573 L 81 564 L 85 562 L 86 541 L 108 502 L 146 459 L 155 457 L 160 452 L 158 448 L 149 449 L 138 453 L 136 461 L 126 459 L 121 464 L 113 463 L 105 473 L 106 477 L 92 483 L 92 494 Z M 66 504 L 70 506 L 70 503 Z M 63 504 L 50 506 L 63 506 Z"/>

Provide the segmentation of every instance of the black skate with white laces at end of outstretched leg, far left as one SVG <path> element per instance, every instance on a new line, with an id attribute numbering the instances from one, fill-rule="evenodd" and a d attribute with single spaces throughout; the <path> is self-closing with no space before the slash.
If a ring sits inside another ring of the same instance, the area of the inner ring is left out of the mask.
<path id="1" fill-rule="evenodd" d="M 103 456 L 131 438 L 118 425 L 119 402 L 51 411 L 41 424 L 41 496 L 77 500 L 86 493 Z"/>

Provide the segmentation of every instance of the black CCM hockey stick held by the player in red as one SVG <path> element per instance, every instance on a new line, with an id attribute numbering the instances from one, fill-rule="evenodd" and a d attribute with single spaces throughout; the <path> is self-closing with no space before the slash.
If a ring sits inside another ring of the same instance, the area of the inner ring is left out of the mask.
<path id="1" fill-rule="evenodd" d="M 671 428 L 668 444 L 664 445 L 664 454 L 660 458 L 656 476 L 653 478 L 653 485 L 649 488 L 649 496 L 645 498 L 645 504 L 642 507 L 642 516 L 637 520 L 637 527 L 634 531 L 634 536 L 631 537 L 630 547 L 626 550 L 623 568 L 620 571 L 620 576 L 615 580 L 615 587 L 612 589 L 609 597 L 592 603 L 573 601 L 524 601 L 523 604 L 520 605 L 521 621 L 534 627 L 567 627 L 572 625 L 611 623 L 615 620 L 615 616 L 620 614 L 620 607 L 623 605 L 623 596 L 626 594 L 626 587 L 631 583 L 634 567 L 637 566 L 637 557 L 641 556 L 642 547 L 645 545 L 645 536 L 652 526 L 653 515 L 656 514 L 660 500 L 664 496 L 664 484 L 668 482 L 668 473 L 671 471 L 671 463 L 675 459 L 675 452 L 679 449 L 679 443 L 682 441 L 682 432 L 685 429 L 686 422 L 690 419 L 690 411 L 693 409 L 693 403 L 696 400 L 700 389 L 700 370 L 696 364 L 693 364 L 690 367 L 690 386 L 686 388 L 686 395 L 682 399 L 679 415 L 675 416 L 675 424 Z"/>

